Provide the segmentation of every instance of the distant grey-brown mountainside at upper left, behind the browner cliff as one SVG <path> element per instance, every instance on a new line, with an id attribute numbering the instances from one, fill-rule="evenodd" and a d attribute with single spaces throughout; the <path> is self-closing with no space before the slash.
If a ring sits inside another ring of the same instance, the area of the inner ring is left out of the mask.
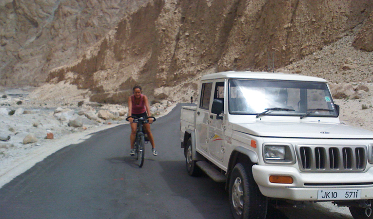
<path id="1" fill-rule="evenodd" d="M 1 0 L 0 85 L 37 86 L 148 0 Z"/>

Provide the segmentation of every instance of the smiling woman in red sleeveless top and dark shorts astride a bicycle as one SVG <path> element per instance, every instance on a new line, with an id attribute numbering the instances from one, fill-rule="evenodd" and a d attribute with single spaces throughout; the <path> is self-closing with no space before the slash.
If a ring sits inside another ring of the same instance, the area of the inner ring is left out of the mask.
<path id="1" fill-rule="evenodd" d="M 148 118 L 150 116 L 150 108 L 149 108 L 149 102 L 148 98 L 144 95 L 141 94 L 141 87 L 136 85 L 133 88 L 134 95 L 131 95 L 128 98 L 128 116 L 136 116 L 137 118 L 143 117 L 143 118 Z M 148 135 L 148 139 L 150 141 L 150 144 L 152 144 L 152 151 L 153 155 L 157 156 L 158 152 L 156 150 L 156 146 L 154 144 L 154 139 L 153 139 L 153 134 L 150 131 L 150 124 L 153 123 L 153 118 L 149 118 L 149 123 L 145 123 L 142 125 L 145 133 Z M 129 122 L 131 123 L 131 151 L 130 155 L 135 156 L 135 149 L 134 149 L 134 144 L 135 144 L 135 139 L 136 139 L 136 131 L 137 131 L 137 124 L 133 122 L 133 118 L 129 118 Z"/>

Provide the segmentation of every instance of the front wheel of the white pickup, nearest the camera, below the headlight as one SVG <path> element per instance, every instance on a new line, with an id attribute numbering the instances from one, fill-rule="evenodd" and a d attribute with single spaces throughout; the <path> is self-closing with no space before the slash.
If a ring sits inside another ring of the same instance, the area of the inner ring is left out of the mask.
<path id="1" fill-rule="evenodd" d="M 229 202 L 235 219 L 265 219 L 267 197 L 256 185 L 251 167 L 236 164 L 229 181 Z"/>

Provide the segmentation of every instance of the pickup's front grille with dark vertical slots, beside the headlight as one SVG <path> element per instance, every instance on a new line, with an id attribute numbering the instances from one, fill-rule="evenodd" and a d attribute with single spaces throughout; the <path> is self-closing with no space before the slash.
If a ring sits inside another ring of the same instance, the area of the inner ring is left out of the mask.
<path id="1" fill-rule="evenodd" d="M 297 146 L 298 162 L 306 172 L 360 172 L 367 164 L 366 146 Z"/>

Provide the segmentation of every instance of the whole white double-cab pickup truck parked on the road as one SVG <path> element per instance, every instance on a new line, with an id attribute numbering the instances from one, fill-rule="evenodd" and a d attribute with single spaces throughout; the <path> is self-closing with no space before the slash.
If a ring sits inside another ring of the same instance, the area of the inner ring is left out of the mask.
<path id="1" fill-rule="evenodd" d="M 339 121 L 326 80 L 214 73 L 198 95 L 181 110 L 187 171 L 225 182 L 235 219 L 265 219 L 270 200 L 333 201 L 373 218 L 373 132 Z"/>

